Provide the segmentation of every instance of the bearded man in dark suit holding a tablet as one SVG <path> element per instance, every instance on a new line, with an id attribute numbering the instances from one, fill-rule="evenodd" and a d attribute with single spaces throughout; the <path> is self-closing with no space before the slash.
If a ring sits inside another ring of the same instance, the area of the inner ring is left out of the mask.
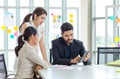
<path id="1" fill-rule="evenodd" d="M 83 43 L 74 39 L 73 26 L 70 23 L 62 24 L 61 36 L 52 41 L 53 64 L 71 65 L 80 60 L 83 60 L 84 65 L 90 64 L 90 54 L 85 55 Z"/>

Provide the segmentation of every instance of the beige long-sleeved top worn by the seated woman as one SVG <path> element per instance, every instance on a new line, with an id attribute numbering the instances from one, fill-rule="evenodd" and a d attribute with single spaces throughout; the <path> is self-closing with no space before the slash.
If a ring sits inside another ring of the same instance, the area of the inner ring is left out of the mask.
<path id="1" fill-rule="evenodd" d="M 33 78 L 33 70 L 37 64 L 41 65 L 45 69 L 48 68 L 47 62 L 38 56 L 36 48 L 25 42 L 19 51 L 18 69 L 15 77 Z"/>

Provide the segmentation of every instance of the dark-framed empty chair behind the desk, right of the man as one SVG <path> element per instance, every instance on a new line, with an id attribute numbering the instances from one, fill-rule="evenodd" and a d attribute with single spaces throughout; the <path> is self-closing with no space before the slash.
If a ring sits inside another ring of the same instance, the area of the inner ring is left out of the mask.
<path id="1" fill-rule="evenodd" d="M 97 64 L 106 64 L 120 58 L 120 47 L 98 47 Z"/>

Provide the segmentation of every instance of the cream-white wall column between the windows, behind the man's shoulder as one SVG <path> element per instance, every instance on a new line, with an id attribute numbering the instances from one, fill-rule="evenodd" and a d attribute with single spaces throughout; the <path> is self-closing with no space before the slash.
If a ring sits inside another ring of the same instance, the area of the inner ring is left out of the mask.
<path id="1" fill-rule="evenodd" d="M 86 50 L 91 50 L 91 0 L 81 0 L 80 11 L 80 40 L 83 41 Z"/>

